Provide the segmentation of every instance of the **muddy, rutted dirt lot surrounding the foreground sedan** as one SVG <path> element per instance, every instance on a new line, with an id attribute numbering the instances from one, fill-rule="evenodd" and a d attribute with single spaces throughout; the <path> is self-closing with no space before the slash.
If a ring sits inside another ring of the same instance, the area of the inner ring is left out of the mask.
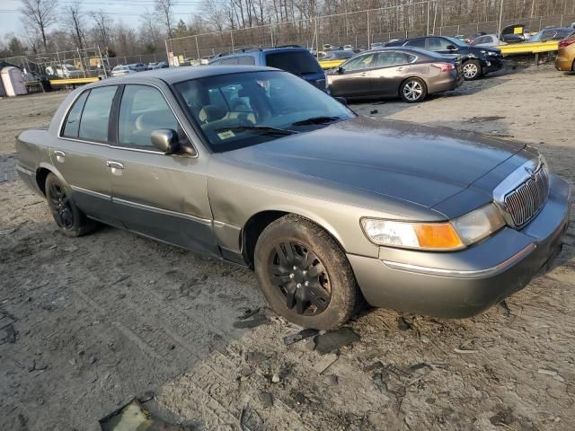
<path id="1" fill-rule="evenodd" d="M 574 79 L 544 66 L 353 108 L 513 136 L 573 183 Z M 0 429 L 95 430 L 135 396 L 190 429 L 575 427 L 575 224 L 558 266 L 507 307 L 469 320 L 365 312 L 349 323 L 360 339 L 320 355 L 309 340 L 284 346 L 296 329 L 246 269 L 111 228 L 56 232 L 13 172 L 13 136 L 64 97 L 0 101 Z M 243 307 L 267 321 L 236 328 Z"/>

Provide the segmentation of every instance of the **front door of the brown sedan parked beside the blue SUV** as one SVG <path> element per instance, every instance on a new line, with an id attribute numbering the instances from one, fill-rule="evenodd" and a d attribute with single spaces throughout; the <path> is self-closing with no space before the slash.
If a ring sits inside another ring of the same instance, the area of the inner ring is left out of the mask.
<path id="1" fill-rule="evenodd" d="M 376 53 L 353 57 L 341 66 L 341 73 L 330 76 L 330 92 L 334 96 L 366 97 L 375 93 L 375 75 L 371 70 L 376 67 Z"/>

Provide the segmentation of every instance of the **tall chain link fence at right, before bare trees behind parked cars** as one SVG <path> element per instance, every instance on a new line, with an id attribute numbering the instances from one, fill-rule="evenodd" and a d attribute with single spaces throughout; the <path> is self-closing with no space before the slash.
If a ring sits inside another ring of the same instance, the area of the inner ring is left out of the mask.
<path id="1" fill-rule="evenodd" d="M 534 3 L 535 4 L 535 3 Z M 550 0 L 543 6 L 526 7 L 520 0 L 492 2 L 469 14 L 466 22 L 447 25 L 449 14 L 462 13 L 462 2 L 435 0 L 358 12 L 323 15 L 305 20 L 279 22 L 248 29 L 214 31 L 166 40 L 172 66 L 199 64 L 199 59 L 247 47 L 300 45 L 323 50 L 324 45 L 370 48 L 385 42 L 427 34 L 464 35 L 484 31 L 497 33 L 506 25 L 524 23 L 530 31 L 547 26 L 569 26 L 575 22 L 575 0 Z M 545 14 L 560 11 L 562 13 Z M 522 13 L 542 13 L 522 17 Z"/>

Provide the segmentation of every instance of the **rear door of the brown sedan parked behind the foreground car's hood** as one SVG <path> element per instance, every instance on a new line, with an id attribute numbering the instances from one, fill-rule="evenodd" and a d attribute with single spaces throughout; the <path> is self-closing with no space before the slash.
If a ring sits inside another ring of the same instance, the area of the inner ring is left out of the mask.
<path id="1" fill-rule="evenodd" d="M 374 75 L 374 91 L 382 96 L 396 96 L 399 86 L 410 71 L 410 65 L 417 57 L 400 51 L 377 53 Z"/>

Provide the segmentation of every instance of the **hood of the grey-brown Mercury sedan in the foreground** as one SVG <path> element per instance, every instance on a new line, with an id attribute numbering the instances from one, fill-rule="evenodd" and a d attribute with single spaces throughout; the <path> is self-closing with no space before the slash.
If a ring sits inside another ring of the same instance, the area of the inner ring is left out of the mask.
<path id="1" fill-rule="evenodd" d="M 228 155 L 338 188 L 434 207 L 524 147 L 450 128 L 357 117 Z M 491 196 L 491 189 L 484 191 Z"/>

